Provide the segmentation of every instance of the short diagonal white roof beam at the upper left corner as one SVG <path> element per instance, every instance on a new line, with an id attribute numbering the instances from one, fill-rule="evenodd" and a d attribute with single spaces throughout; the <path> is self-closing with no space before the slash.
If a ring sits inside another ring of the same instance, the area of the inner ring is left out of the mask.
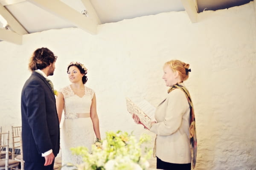
<path id="1" fill-rule="evenodd" d="M 7 11 L 7 9 L 0 4 L 0 15 L 7 21 L 8 26 L 17 34 L 28 34 L 25 28 Z"/>

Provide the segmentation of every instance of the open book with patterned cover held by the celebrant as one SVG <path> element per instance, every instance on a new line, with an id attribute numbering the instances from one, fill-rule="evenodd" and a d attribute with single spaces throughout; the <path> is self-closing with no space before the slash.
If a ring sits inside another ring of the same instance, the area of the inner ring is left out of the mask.
<path id="1" fill-rule="evenodd" d="M 151 121 L 154 120 L 156 108 L 145 99 L 126 98 L 127 111 L 134 113 L 140 118 L 140 122 L 148 129 L 151 127 Z"/>

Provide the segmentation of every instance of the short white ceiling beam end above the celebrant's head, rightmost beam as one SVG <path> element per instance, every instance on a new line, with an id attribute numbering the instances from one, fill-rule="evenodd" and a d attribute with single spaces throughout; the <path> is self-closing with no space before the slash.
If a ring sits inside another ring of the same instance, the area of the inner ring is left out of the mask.
<path id="1" fill-rule="evenodd" d="M 189 15 L 189 19 L 192 23 L 197 22 L 198 15 L 198 4 L 197 0 L 181 0 L 187 14 Z"/>

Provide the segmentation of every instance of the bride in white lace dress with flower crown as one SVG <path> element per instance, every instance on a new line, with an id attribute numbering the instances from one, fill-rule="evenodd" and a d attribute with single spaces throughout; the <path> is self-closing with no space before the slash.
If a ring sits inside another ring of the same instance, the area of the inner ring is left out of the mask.
<path id="1" fill-rule="evenodd" d="M 82 162 L 79 156 L 71 153 L 71 147 L 85 146 L 90 150 L 95 142 L 94 133 L 97 139 L 101 139 L 96 96 L 91 88 L 84 85 L 87 82 L 87 68 L 80 62 L 70 62 L 67 74 L 72 84 L 61 88 L 56 99 L 59 122 L 63 110 L 65 116 L 61 128 L 62 166 Z M 65 166 L 61 168 L 68 169 Z"/>

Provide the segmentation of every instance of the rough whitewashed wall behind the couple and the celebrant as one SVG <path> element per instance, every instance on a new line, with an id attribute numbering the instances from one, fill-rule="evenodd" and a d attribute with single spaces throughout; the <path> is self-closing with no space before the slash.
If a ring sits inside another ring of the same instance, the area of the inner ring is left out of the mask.
<path id="1" fill-rule="evenodd" d="M 185 84 L 195 106 L 196 169 L 256 169 L 254 10 L 252 1 L 204 11 L 198 23 L 191 23 L 185 11 L 169 12 L 103 24 L 96 35 L 64 28 L 25 35 L 23 45 L 0 42 L 0 125 L 10 130 L 21 124 L 20 92 L 36 48 L 47 47 L 58 56 L 50 77 L 57 89 L 70 83 L 70 61 L 87 66 L 103 137 L 108 130 L 147 132 L 127 113 L 125 96 L 141 96 L 156 106 L 167 91 L 163 63 L 180 59 L 192 70 Z"/>

